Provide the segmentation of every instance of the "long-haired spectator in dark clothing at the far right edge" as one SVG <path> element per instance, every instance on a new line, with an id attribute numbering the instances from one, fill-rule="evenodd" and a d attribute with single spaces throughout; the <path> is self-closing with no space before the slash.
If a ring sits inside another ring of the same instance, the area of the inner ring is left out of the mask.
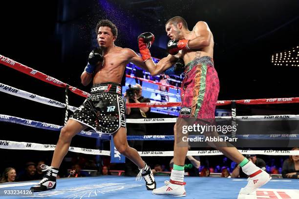
<path id="1" fill-rule="evenodd" d="M 293 148 L 292 151 L 299 150 Z M 290 156 L 289 159 L 284 160 L 282 166 L 282 178 L 299 179 L 299 156 Z"/>

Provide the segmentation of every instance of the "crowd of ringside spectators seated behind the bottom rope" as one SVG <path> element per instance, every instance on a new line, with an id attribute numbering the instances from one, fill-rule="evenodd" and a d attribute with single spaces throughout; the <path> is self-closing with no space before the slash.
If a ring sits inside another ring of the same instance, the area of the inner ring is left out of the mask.
<path id="1" fill-rule="evenodd" d="M 292 150 L 299 150 L 299 148 L 293 148 Z M 281 174 L 282 178 L 299 179 L 299 156 L 290 156 L 287 159 L 279 157 L 279 165 L 274 165 L 274 160 L 272 159 L 269 162 L 270 164 L 266 164 L 263 159 L 257 158 L 256 155 L 250 155 L 247 156 L 247 158 L 269 174 Z M 106 159 L 106 161 L 103 160 L 99 166 L 96 165 L 94 160 L 87 160 L 82 157 L 79 157 L 76 160 L 78 159 L 79 161 L 73 163 L 67 171 L 60 171 L 58 178 L 77 178 L 99 175 L 107 176 L 112 175 L 110 170 L 115 167 L 115 164 L 109 163 L 109 159 Z M 205 164 L 206 163 L 207 161 L 205 161 Z M 45 164 L 43 160 L 40 160 L 37 163 L 29 161 L 26 162 L 23 169 L 20 169 L 19 171 L 13 167 L 7 167 L 2 171 L 0 183 L 43 179 L 43 164 Z M 223 178 L 247 178 L 235 162 L 230 162 L 230 165 L 228 164 L 229 161 L 225 157 L 215 167 L 208 167 L 206 165 L 201 165 L 199 156 L 187 156 L 184 165 L 185 175 L 210 177 L 211 173 L 221 173 L 220 177 Z M 129 165 L 132 166 L 132 164 Z M 170 160 L 168 165 L 158 164 L 156 162 L 149 162 L 149 165 L 151 166 L 154 175 L 169 175 L 169 172 L 172 169 L 173 159 Z M 116 171 L 117 174 L 115 175 L 132 176 L 130 172 L 134 169 L 129 169 L 129 172 L 126 172 L 128 166 L 126 166 L 126 164 L 121 164 L 121 166 L 125 172 Z"/>

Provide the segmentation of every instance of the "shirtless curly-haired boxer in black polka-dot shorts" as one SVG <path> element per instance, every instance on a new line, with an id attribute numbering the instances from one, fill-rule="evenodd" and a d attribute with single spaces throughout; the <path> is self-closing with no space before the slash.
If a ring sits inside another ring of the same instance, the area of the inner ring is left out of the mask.
<path id="1" fill-rule="evenodd" d="M 85 86 L 92 80 L 91 95 L 62 128 L 51 166 L 43 165 L 47 173 L 39 184 L 31 187 L 33 191 L 55 189 L 58 170 L 72 138 L 86 128 L 99 133 L 113 134 L 116 149 L 140 169 L 137 179 L 143 176 L 148 190 L 156 188 L 151 169 L 138 152 L 128 146 L 125 102 L 120 85 L 128 62 L 140 67 L 145 67 L 145 63 L 131 49 L 114 45 L 117 28 L 111 21 L 100 20 L 96 34 L 100 48 L 95 48 L 89 54 L 87 66 L 81 75 L 82 84 Z"/>

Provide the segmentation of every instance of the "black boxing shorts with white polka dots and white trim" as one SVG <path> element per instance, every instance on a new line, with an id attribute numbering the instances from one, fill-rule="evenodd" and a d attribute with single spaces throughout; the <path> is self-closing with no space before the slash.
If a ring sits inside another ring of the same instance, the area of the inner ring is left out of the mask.
<path id="1" fill-rule="evenodd" d="M 94 84 L 91 95 L 69 119 L 103 134 L 115 133 L 120 127 L 126 128 L 125 100 L 121 85 L 115 82 Z"/>

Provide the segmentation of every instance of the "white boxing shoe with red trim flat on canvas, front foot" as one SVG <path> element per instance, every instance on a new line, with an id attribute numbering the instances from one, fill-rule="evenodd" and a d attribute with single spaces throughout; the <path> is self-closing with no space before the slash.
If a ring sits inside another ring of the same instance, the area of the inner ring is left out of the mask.
<path id="1" fill-rule="evenodd" d="M 185 184 L 186 182 L 166 180 L 164 181 L 165 185 L 163 187 L 152 190 L 154 195 L 163 195 L 163 196 L 186 196 Z"/>

